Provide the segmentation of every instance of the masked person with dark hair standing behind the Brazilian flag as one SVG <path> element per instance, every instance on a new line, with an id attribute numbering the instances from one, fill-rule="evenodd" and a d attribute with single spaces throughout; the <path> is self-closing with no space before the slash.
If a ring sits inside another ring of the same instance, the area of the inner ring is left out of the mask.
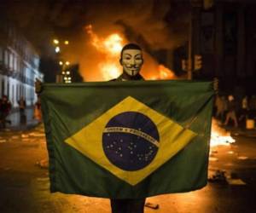
<path id="1" fill-rule="evenodd" d="M 128 43 L 120 54 L 123 72 L 112 81 L 143 80 L 140 75 L 143 66 L 143 51 L 135 43 Z M 112 213 L 143 213 L 145 199 L 111 199 Z"/>

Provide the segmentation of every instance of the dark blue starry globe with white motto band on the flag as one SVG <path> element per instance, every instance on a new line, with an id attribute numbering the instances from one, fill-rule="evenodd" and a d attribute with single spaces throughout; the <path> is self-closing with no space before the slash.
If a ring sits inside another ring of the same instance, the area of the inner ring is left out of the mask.
<path id="1" fill-rule="evenodd" d="M 108 160 L 127 171 L 150 164 L 159 148 L 160 135 L 154 122 L 141 112 L 122 112 L 108 121 L 102 146 Z"/>

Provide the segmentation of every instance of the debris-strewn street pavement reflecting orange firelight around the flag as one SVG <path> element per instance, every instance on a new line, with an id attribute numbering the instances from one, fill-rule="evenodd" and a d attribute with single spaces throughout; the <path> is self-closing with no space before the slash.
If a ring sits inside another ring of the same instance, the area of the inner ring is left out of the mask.
<path id="1" fill-rule="evenodd" d="M 108 199 L 49 193 L 48 170 L 38 165 L 47 158 L 44 125 L 32 110 L 26 113 L 26 124 L 16 112 L 12 125 L 0 130 L 0 212 L 110 213 Z M 235 143 L 212 147 L 207 187 L 148 198 L 160 208 L 145 207 L 145 213 L 256 212 L 256 131 L 230 131 Z"/>

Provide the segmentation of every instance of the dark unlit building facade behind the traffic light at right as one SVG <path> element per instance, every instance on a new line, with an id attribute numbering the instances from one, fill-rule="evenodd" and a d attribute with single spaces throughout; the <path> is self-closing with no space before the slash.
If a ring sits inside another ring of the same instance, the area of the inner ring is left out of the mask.
<path id="1" fill-rule="evenodd" d="M 220 80 L 227 92 L 255 94 L 256 2 L 214 1 L 209 9 L 194 8 L 193 54 L 202 56 L 199 78 Z"/>

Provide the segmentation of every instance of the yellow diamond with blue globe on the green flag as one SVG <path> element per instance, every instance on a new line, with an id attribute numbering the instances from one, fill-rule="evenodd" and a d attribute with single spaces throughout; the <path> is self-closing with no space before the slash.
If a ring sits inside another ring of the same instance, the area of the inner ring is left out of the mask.
<path id="1" fill-rule="evenodd" d="M 131 96 L 65 142 L 134 186 L 196 136 Z"/>

